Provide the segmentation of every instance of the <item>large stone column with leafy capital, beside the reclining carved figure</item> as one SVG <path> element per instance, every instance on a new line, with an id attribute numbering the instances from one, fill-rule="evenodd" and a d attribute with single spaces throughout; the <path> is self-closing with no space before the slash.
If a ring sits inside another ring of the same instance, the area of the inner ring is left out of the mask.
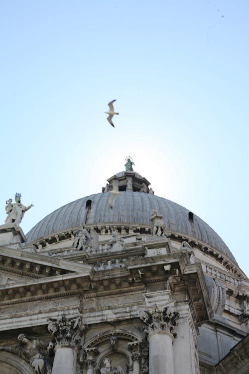
<path id="1" fill-rule="evenodd" d="M 84 330 L 81 315 L 48 321 L 48 331 L 56 340 L 51 374 L 76 374 L 78 347 Z"/>

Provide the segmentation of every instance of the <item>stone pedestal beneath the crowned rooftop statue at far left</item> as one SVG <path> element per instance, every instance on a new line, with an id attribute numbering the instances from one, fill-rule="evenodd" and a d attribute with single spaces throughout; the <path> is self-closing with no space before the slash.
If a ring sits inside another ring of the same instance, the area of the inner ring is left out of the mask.
<path id="1" fill-rule="evenodd" d="M 14 246 L 25 242 L 25 235 L 19 226 L 14 223 L 0 225 L 0 245 Z"/>

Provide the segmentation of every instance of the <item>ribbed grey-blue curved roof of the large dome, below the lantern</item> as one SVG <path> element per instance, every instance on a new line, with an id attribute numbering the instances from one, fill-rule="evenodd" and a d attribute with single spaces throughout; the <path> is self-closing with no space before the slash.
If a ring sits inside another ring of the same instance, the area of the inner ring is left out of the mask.
<path id="1" fill-rule="evenodd" d="M 82 222 L 87 224 L 119 222 L 124 225 L 133 223 L 150 226 L 151 209 L 155 209 L 163 216 L 169 229 L 196 237 L 237 263 L 220 236 L 195 214 L 193 219 L 189 219 L 189 210 L 183 206 L 151 193 L 123 191 L 122 195 L 116 197 L 114 208 L 111 209 L 108 203 L 109 196 L 110 192 L 97 193 L 60 207 L 27 233 L 27 241 L 31 242 L 56 231 L 79 226 Z"/>

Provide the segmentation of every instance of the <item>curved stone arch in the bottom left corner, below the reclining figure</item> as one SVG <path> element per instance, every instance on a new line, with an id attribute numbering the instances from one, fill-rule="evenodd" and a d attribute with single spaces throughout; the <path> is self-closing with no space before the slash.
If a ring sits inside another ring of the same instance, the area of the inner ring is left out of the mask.
<path id="1" fill-rule="evenodd" d="M 9 352 L 0 352 L 0 373 L 35 374 L 31 366 L 19 356 Z"/>

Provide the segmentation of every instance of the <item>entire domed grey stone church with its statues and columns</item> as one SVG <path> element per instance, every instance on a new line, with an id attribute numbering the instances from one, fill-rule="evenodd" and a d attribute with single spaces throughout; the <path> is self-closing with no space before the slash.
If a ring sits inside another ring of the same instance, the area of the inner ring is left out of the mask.
<path id="1" fill-rule="evenodd" d="M 249 279 L 133 165 L 26 235 L 6 201 L 0 374 L 249 373 Z"/>

